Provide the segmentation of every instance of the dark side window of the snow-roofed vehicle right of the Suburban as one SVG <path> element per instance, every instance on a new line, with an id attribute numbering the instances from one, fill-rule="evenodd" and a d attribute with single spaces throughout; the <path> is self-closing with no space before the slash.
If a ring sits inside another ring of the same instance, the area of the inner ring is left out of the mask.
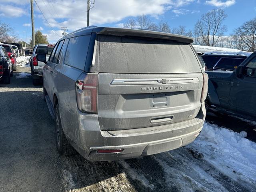
<path id="1" fill-rule="evenodd" d="M 244 59 L 242 58 L 221 58 L 215 68 L 235 70 L 235 68 L 239 66 L 243 61 Z"/>

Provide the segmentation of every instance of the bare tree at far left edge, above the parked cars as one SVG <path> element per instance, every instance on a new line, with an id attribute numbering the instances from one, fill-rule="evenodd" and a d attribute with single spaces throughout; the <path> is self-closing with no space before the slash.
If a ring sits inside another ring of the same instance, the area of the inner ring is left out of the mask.
<path id="1" fill-rule="evenodd" d="M 17 42 L 18 35 L 9 24 L 0 23 L 0 42 Z"/>

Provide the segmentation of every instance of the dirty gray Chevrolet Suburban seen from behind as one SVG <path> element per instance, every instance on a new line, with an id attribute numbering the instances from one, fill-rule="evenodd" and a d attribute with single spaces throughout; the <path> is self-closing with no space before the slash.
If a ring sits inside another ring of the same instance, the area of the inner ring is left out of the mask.
<path id="1" fill-rule="evenodd" d="M 89 26 L 56 43 L 44 98 L 61 155 L 120 160 L 187 145 L 200 134 L 208 75 L 192 38 Z M 74 150 L 75 149 L 75 150 Z"/>

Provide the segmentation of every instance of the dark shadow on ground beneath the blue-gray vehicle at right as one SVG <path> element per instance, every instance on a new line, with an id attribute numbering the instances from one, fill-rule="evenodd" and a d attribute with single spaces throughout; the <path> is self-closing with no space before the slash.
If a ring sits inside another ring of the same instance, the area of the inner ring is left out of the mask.
<path id="1" fill-rule="evenodd" d="M 256 142 L 256 122 L 242 120 L 241 118 L 230 116 L 218 112 L 216 109 L 210 108 L 206 114 L 206 121 L 211 124 L 216 124 L 220 127 L 224 127 L 234 132 L 247 132 L 247 139 Z"/>

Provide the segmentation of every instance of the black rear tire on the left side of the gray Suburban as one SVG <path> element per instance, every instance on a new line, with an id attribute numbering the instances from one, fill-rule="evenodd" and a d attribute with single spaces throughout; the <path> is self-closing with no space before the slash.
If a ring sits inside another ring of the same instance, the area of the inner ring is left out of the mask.
<path id="1" fill-rule="evenodd" d="M 56 146 L 60 155 L 69 156 L 76 153 L 76 150 L 68 142 L 61 125 L 59 104 L 55 107 L 55 135 Z"/>

